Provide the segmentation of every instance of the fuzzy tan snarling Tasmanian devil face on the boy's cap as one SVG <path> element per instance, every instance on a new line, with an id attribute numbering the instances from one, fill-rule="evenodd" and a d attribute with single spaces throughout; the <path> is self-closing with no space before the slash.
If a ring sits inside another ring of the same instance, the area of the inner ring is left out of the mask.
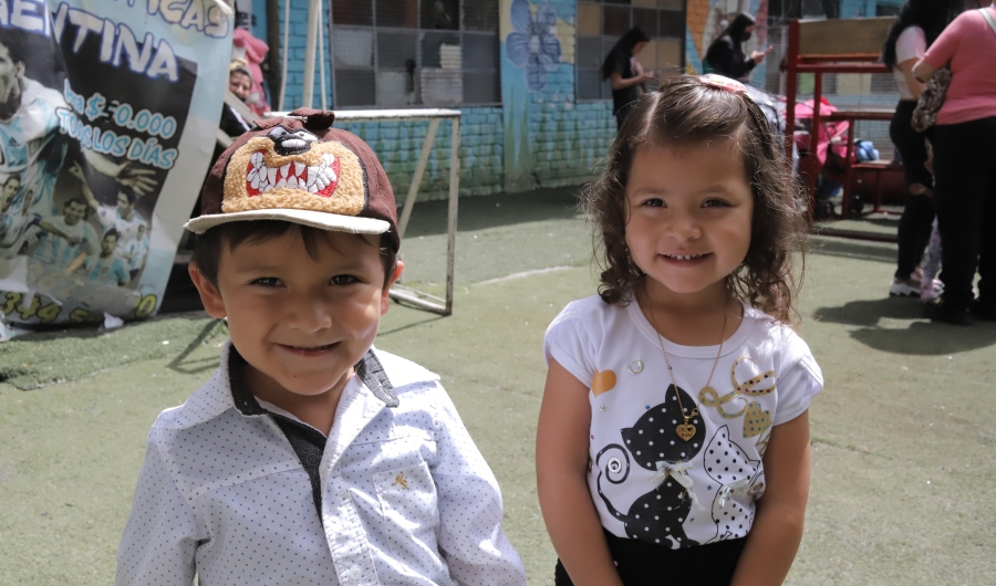
<path id="1" fill-rule="evenodd" d="M 225 172 L 225 213 L 299 209 L 359 216 L 366 205 L 360 158 L 338 140 L 276 126 L 232 153 Z"/>

